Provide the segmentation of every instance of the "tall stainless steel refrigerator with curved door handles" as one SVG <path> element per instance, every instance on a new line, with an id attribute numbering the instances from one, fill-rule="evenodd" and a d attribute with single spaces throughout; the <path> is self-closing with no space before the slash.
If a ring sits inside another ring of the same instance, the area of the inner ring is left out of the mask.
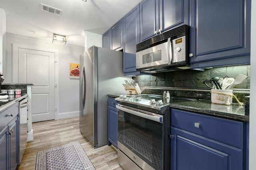
<path id="1" fill-rule="evenodd" d="M 80 55 L 80 132 L 94 148 L 108 144 L 108 94 L 126 93 L 123 53 L 92 46 Z"/>

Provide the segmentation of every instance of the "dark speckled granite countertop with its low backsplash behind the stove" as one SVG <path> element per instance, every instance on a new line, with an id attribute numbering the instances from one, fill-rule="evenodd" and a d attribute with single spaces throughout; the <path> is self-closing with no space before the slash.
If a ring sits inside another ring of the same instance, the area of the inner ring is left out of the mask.
<path id="1" fill-rule="evenodd" d="M 143 89 L 143 88 L 141 88 Z M 221 105 L 214 104 L 210 99 L 210 91 L 204 89 L 167 89 L 170 91 L 171 97 L 190 97 L 197 100 L 194 101 L 185 101 L 180 103 L 170 103 L 170 107 L 175 109 L 180 109 L 184 111 L 192 111 L 196 113 L 201 113 L 204 115 L 211 115 L 216 117 L 222 117 L 226 119 L 233 119 L 237 121 L 249 121 L 249 115 L 245 113 L 245 105 L 240 106 L 238 103 L 232 105 Z M 164 89 L 145 89 L 141 95 L 154 94 L 162 95 Z M 109 97 L 119 97 L 121 94 L 108 94 Z M 126 95 L 126 94 L 122 94 Z M 236 95 L 236 94 L 235 94 Z M 249 95 L 249 94 L 245 94 Z M 128 95 L 127 95 L 128 96 Z M 241 99 L 239 99 L 241 101 Z M 245 99 L 244 99 L 245 100 Z M 244 102 L 242 100 L 241 102 Z"/>

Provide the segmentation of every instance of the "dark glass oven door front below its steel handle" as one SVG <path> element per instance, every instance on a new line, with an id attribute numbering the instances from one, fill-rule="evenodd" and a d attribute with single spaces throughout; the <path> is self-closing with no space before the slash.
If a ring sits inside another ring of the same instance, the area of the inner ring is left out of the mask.
<path id="1" fill-rule="evenodd" d="M 163 124 L 118 109 L 118 142 L 152 168 L 163 168 Z M 162 115 L 161 115 L 162 116 Z M 146 117 L 146 118 L 145 118 Z M 164 118 L 164 117 L 163 117 Z M 160 119 L 162 120 L 162 119 Z"/>

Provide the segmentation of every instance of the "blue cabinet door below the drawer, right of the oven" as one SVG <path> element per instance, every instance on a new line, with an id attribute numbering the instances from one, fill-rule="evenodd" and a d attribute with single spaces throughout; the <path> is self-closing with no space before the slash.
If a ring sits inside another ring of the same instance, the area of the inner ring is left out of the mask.
<path id="1" fill-rule="evenodd" d="M 242 170 L 243 151 L 171 127 L 171 170 Z"/>

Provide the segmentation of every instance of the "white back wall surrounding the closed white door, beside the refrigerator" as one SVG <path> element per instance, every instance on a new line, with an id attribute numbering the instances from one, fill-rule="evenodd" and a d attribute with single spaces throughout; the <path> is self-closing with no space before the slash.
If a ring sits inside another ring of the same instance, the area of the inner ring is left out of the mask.
<path id="1" fill-rule="evenodd" d="M 12 43 L 17 45 L 27 45 L 35 49 L 46 51 L 56 51 L 57 63 L 55 82 L 55 119 L 79 116 L 79 79 L 70 79 L 70 63 L 79 63 L 79 56 L 83 53 L 84 47 L 58 45 L 45 40 L 38 40 L 13 34 L 6 34 L 6 66 L 3 70 L 3 83 L 17 83 L 18 80 L 12 78 Z M 82 44 L 83 45 L 83 44 Z"/>

